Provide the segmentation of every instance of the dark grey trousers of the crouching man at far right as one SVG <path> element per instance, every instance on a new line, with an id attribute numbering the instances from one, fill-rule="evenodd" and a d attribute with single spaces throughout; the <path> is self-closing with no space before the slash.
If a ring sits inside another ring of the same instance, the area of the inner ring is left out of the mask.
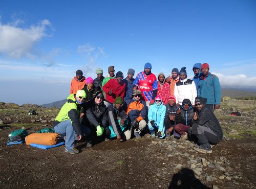
<path id="1" fill-rule="evenodd" d="M 203 145 L 204 147 L 208 147 L 209 143 L 216 145 L 221 141 L 215 132 L 208 127 L 193 124 L 191 131 L 192 134 L 197 136 L 198 144 Z"/>

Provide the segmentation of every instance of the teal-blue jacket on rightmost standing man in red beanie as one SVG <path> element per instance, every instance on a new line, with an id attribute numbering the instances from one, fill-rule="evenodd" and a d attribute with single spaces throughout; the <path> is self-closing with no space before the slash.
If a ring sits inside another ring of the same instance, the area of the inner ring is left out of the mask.
<path id="1" fill-rule="evenodd" d="M 202 78 L 202 77 L 201 77 Z M 211 73 L 203 80 L 200 78 L 198 97 L 207 99 L 206 104 L 221 104 L 221 84 L 219 78 Z"/>

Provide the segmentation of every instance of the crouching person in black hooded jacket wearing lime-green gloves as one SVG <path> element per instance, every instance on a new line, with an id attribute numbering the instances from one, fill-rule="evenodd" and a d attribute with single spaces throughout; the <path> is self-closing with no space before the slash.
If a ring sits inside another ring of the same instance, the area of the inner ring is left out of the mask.
<path id="1" fill-rule="evenodd" d="M 92 147 L 95 140 L 103 140 L 109 137 L 108 111 L 104 105 L 102 90 L 97 91 L 92 100 L 86 103 L 86 119 L 84 125 L 91 129 L 90 140 L 87 147 Z M 102 137 L 104 136 L 104 137 Z"/>

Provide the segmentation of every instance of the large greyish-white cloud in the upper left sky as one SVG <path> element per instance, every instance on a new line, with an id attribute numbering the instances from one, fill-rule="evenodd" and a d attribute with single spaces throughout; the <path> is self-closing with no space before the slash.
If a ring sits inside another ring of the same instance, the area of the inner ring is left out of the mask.
<path id="1" fill-rule="evenodd" d="M 0 22 L 0 53 L 11 58 L 31 58 L 30 52 L 35 43 L 43 37 L 50 36 L 46 33 L 46 29 L 51 27 L 51 22 L 44 19 L 29 28 L 19 28 L 17 26 L 19 23 L 22 23 L 22 20 L 7 25 Z"/>

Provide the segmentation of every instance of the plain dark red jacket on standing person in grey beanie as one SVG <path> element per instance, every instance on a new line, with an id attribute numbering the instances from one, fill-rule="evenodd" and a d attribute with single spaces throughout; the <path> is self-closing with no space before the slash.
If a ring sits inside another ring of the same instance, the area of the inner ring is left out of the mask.
<path id="1" fill-rule="evenodd" d="M 106 93 L 106 101 L 109 103 L 114 103 L 116 97 L 124 98 L 125 93 L 125 83 L 121 81 L 118 83 L 117 79 L 110 79 L 106 84 L 102 87 L 104 92 Z M 109 94 L 109 91 L 112 89 L 112 94 Z"/>

